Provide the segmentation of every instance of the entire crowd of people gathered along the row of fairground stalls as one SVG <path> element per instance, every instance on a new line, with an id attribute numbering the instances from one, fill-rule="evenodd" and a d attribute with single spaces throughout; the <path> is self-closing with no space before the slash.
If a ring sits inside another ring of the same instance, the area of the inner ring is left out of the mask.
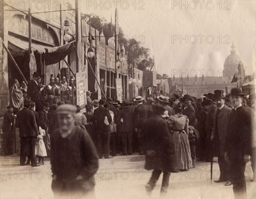
<path id="1" fill-rule="evenodd" d="M 145 155 L 145 169 L 154 170 L 146 185 L 148 193 L 160 173 L 161 193 L 166 193 L 171 172 L 194 168 L 196 159 L 211 162 L 213 156 L 218 157 L 220 168 L 220 178 L 215 182 L 233 184 L 236 198 L 246 196 L 244 169 L 250 156 L 255 182 L 255 95 L 247 99 L 239 88 L 233 88 L 229 96 L 215 90 L 198 98 L 174 93 L 171 99 L 160 95 L 145 100 L 137 96 L 120 103 L 111 97 L 92 100 L 87 91 L 86 111 L 81 112 L 81 107 L 73 105 L 74 93 L 71 98 L 67 92 L 69 98 L 63 94 L 58 98 L 65 85 L 58 81 L 51 77 L 44 89 L 47 100 L 42 104 L 44 86 L 34 73 L 22 103 L 24 108 L 15 112 L 17 107 L 9 105 L 2 128 L 2 155 L 9 154 L 10 126 L 15 119 L 20 134 L 20 165 L 37 167 L 44 165 L 45 156 L 51 158 L 56 177 L 52 189 L 56 193 L 73 189 L 84 193 L 85 186 L 77 187 L 76 183 L 85 177 L 83 183 L 90 182 L 86 192 L 93 190 L 98 159 L 134 153 Z M 74 85 L 70 90 L 75 90 Z"/>

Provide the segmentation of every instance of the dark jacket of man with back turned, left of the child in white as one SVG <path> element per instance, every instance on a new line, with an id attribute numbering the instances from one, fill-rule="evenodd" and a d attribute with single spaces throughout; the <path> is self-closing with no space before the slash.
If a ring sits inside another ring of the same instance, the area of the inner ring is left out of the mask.
<path id="1" fill-rule="evenodd" d="M 38 136 L 38 126 L 33 111 L 23 108 L 17 114 L 16 127 L 20 128 L 20 137 Z"/>

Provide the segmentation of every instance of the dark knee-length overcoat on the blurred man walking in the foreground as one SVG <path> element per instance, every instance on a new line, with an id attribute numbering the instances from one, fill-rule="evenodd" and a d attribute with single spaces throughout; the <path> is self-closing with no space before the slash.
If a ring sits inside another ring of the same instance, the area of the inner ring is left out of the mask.
<path id="1" fill-rule="evenodd" d="M 166 121 L 160 116 L 152 116 L 144 123 L 147 170 L 178 172 L 175 149 Z"/>

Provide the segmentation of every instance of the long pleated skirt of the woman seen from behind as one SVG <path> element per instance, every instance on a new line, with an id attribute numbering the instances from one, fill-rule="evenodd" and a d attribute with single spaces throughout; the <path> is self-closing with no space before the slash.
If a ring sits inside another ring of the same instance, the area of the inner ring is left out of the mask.
<path id="1" fill-rule="evenodd" d="M 175 148 L 178 168 L 180 170 L 192 168 L 189 138 L 185 131 L 172 131 L 172 143 Z"/>

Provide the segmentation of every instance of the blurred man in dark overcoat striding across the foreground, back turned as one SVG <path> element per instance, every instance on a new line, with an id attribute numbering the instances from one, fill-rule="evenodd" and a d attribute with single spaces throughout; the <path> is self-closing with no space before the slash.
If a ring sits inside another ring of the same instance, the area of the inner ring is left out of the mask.
<path id="1" fill-rule="evenodd" d="M 145 169 L 151 170 L 152 176 L 146 185 L 146 190 L 150 194 L 156 182 L 163 172 L 161 194 L 167 192 L 169 177 L 171 172 L 178 172 L 175 157 L 175 149 L 171 143 L 167 122 L 161 117 L 165 109 L 160 104 L 152 106 L 154 116 L 147 119 L 143 124 L 145 134 L 146 162 Z"/>

